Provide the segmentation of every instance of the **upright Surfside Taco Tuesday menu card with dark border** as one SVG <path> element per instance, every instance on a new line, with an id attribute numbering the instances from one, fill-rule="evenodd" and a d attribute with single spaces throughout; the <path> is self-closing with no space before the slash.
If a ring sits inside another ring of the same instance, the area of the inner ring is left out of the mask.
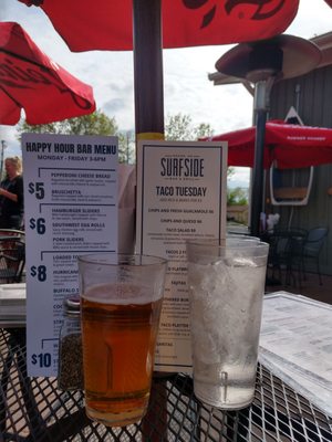
<path id="1" fill-rule="evenodd" d="M 155 370 L 191 372 L 186 244 L 226 234 L 227 144 L 141 141 L 136 249 L 167 257 Z"/>

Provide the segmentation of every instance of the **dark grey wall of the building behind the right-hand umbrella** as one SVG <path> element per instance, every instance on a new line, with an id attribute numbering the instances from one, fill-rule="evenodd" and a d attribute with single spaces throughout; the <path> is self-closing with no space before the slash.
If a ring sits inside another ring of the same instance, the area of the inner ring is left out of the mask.
<path id="1" fill-rule="evenodd" d="M 304 125 L 332 128 L 332 65 L 274 84 L 271 91 L 269 119 L 284 119 L 291 106 L 298 110 Z M 331 188 L 332 165 L 318 166 L 314 168 L 308 206 L 270 208 L 273 213 L 280 213 L 282 227 L 330 228 L 321 254 L 321 270 L 330 275 L 332 275 L 332 194 L 329 194 Z"/>

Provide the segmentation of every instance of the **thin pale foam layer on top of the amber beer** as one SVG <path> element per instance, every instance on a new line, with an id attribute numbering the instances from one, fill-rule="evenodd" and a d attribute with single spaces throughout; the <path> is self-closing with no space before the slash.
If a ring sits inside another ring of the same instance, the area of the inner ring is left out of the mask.
<path id="1" fill-rule="evenodd" d="M 148 304 L 160 299 L 163 292 L 153 292 L 152 286 L 143 286 L 127 283 L 96 284 L 81 294 L 84 299 L 101 304 Z"/>

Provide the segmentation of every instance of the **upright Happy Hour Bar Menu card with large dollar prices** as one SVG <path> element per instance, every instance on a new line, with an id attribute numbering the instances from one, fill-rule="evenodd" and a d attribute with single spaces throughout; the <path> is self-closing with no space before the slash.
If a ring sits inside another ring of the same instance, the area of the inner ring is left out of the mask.
<path id="1" fill-rule="evenodd" d="M 23 134 L 29 376 L 56 376 L 77 255 L 117 251 L 117 138 Z"/>

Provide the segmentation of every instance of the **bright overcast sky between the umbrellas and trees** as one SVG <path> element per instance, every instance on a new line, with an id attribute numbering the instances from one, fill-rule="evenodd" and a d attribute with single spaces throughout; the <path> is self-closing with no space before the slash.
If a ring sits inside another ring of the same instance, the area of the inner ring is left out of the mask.
<path id="1" fill-rule="evenodd" d="M 121 130 L 134 129 L 133 53 L 91 51 L 72 53 L 42 10 L 18 0 L 1 0 L 1 21 L 20 23 L 34 42 L 58 64 L 93 86 L 96 106 L 115 117 Z M 332 31 L 332 9 L 324 0 L 300 0 L 286 33 L 310 39 Z M 190 115 L 194 124 L 208 123 L 215 134 L 251 125 L 252 97 L 241 85 L 214 86 L 208 73 L 230 45 L 164 51 L 165 116 Z M 0 126 L 6 156 L 20 154 L 15 127 Z M 245 180 L 248 172 L 243 173 Z M 236 179 L 241 186 L 241 173 Z"/>

